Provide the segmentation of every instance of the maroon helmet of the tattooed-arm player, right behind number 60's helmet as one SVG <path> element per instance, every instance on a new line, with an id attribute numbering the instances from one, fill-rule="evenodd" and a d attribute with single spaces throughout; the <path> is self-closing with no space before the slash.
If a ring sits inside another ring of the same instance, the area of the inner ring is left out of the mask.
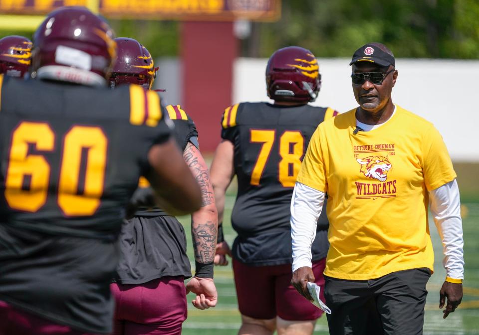
<path id="1" fill-rule="evenodd" d="M 115 38 L 118 54 L 110 76 L 110 86 L 137 84 L 151 89 L 158 68 L 155 68 L 150 52 L 136 39 Z"/>

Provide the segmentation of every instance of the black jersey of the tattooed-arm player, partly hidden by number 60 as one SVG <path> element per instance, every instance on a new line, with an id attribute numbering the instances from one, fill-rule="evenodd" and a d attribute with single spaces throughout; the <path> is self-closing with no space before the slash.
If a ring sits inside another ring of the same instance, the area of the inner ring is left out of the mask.
<path id="1" fill-rule="evenodd" d="M 167 106 L 165 119 L 173 123 L 172 135 L 182 151 L 189 142 L 198 147 L 195 122 L 179 105 Z M 140 184 L 148 187 L 144 178 Z M 159 208 L 136 211 L 135 217 L 123 224 L 118 243 L 120 261 L 113 282 L 143 284 L 164 276 L 191 277 L 185 230 Z"/>

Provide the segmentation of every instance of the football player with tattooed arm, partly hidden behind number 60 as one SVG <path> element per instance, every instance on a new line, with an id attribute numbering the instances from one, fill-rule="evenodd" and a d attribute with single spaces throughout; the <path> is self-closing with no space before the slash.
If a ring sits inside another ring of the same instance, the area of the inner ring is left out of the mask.
<path id="1" fill-rule="evenodd" d="M 150 89 L 158 68 L 148 50 L 132 38 L 116 38 L 117 61 L 111 87 L 135 83 Z M 120 262 L 111 290 L 116 298 L 115 335 L 180 335 L 187 317 L 186 292 L 197 294 L 198 309 L 215 307 L 213 260 L 218 214 L 213 188 L 191 117 L 180 106 L 167 106 L 165 119 L 183 150 L 183 158 L 202 190 L 202 207 L 192 215 L 191 230 L 196 274 L 191 277 L 186 236 L 178 220 L 160 208 L 143 207 L 124 223 L 119 239 Z M 138 192 L 148 193 L 142 179 Z M 147 307 L 145 307 L 147 306 Z"/>

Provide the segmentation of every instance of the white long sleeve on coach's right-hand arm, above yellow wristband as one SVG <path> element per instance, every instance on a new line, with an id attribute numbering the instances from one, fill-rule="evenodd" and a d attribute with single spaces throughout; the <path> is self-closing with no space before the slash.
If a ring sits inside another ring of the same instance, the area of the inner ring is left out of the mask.
<path id="1" fill-rule="evenodd" d="M 434 222 L 443 241 L 443 265 L 449 278 L 464 279 L 461 201 L 456 179 L 429 192 Z"/>

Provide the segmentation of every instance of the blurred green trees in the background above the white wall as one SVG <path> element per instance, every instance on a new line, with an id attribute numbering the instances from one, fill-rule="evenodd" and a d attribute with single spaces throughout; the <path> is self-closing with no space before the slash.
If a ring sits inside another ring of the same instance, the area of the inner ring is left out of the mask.
<path id="1" fill-rule="evenodd" d="M 180 51 L 181 22 L 111 20 L 117 36 L 137 38 L 155 57 Z M 25 32 L 0 31 L 0 36 Z M 31 32 L 26 33 L 31 36 Z M 253 22 L 240 56 L 269 57 L 300 45 L 317 57 L 350 57 L 367 42 L 397 57 L 479 58 L 479 0 L 282 0 L 277 22 Z"/>

